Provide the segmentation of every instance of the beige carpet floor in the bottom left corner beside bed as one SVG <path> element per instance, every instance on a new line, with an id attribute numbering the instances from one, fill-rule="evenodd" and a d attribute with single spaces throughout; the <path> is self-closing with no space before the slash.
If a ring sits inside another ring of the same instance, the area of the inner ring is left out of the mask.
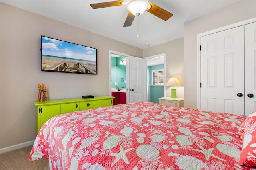
<path id="1" fill-rule="evenodd" d="M 28 159 L 32 146 L 0 154 L 0 170 L 44 170 L 47 158 Z"/>

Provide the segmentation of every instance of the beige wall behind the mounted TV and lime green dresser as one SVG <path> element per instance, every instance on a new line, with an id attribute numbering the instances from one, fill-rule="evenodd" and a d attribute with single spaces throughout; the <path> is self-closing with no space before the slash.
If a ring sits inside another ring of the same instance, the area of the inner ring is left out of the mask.
<path id="1" fill-rule="evenodd" d="M 49 99 L 109 95 L 109 50 L 142 57 L 142 49 L 0 2 L 0 149 L 36 137 L 38 83 Z M 41 35 L 98 49 L 98 74 L 41 71 Z"/>

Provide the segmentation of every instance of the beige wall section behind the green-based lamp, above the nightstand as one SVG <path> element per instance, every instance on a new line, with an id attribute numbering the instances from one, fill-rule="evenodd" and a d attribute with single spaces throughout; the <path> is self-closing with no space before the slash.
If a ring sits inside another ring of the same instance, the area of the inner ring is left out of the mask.
<path id="1" fill-rule="evenodd" d="M 184 53 L 183 53 L 183 37 L 155 45 L 143 50 L 143 58 L 153 55 L 165 53 L 166 60 L 166 78 L 172 78 L 173 76 L 180 80 L 180 83 L 184 84 Z M 176 87 L 176 96 L 178 98 L 184 97 L 184 88 Z M 171 87 L 166 87 L 166 96 L 171 96 Z"/>

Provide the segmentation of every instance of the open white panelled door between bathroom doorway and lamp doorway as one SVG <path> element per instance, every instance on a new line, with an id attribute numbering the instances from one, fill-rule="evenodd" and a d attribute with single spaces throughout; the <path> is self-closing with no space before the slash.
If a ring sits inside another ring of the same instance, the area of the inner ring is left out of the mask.
<path id="1" fill-rule="evenodd" d="M 130 56 L 130 102 L 147 101 L 146 99 L 146 59 Z"/>

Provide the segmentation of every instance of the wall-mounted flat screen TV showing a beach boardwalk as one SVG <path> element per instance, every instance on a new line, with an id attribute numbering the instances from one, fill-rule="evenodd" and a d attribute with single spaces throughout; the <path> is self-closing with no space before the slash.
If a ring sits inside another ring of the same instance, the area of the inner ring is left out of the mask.
<path id="1" fill-rule="evenodd" d="M 42 71 L 97 74 L 97 49 L 41 36 Z"/>

